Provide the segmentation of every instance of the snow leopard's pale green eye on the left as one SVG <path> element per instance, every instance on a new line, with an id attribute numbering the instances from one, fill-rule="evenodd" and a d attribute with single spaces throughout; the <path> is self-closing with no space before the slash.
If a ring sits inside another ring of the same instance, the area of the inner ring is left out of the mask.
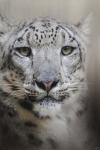
<path id="1" fill-rule="evenodd" d="M 15 50 L 25 57 L 29 57 L 31 55 L 31 48 L 29 47 L 17 47 Z"/>

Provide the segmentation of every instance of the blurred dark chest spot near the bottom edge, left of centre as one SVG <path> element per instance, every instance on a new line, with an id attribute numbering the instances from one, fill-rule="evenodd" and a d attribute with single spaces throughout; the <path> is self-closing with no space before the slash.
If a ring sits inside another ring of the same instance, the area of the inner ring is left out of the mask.
<path id="1" fill-rule="evenodd" d="M 29 142 L 36 147 L 40 147 L 43 144 L 42 140 L 40 140 L 38 137 L 36 137 L 35 135 L 31 133 L 28 134 L 28 139 L 29 139 Z"/>

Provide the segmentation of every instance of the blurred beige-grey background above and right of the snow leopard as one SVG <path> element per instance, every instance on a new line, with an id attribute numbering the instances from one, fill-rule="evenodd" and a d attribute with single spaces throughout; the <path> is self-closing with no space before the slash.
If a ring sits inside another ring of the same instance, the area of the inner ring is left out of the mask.
<path id="1" fill-rule="evenodd" d="M 93 13 L 88 48 L 89 96 L 93 115 L 100 114 L 100 0 L 0 0 L 0 13 L 12 22 L 49 16 L 59 21 L 76 24 Z M 99 123 L 98 123 L 99 124 Z"/>

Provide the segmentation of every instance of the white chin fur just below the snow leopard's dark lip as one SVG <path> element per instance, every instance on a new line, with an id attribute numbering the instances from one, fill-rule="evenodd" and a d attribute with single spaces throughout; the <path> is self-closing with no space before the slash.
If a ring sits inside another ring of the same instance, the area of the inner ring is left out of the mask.
<path id="1" fill-rule="evenodd" d="M 34 112 L 40 117 L 55 116 L 61 109 L 61 103 L 42 102 L 34 104 Z"/>

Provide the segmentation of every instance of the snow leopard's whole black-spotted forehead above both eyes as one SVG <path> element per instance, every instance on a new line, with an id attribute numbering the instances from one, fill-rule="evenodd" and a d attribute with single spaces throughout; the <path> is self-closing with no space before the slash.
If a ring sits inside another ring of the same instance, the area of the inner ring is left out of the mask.
<path id="1" fill-rule="evenodd" d="M 36 19 L 18 33 L 15 45 L 28 44 L 34 46 L 55 45 L 62 43 L 65 38 L 64 28 L 52 19 Z M 66 33 L 69 37 L 70 33 Z M 26 43 L 25 43 L 26 41 Z"/>

